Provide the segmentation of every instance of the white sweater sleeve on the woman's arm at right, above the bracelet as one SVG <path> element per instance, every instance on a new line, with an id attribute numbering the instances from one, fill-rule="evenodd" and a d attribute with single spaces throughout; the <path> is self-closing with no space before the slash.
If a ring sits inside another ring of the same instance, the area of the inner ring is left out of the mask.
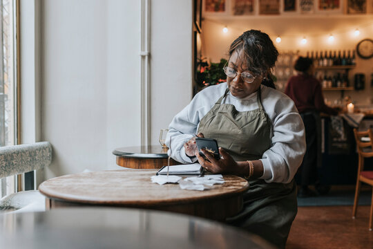
<path id="1" fill-rule="evenodd" d="M 267 183 L 289 183 L 302 163 L 306 150 L 305 127 L 291 99 L 276 101 L 271 117 L 271 147 L 262 156 L 263 178 Z"/>

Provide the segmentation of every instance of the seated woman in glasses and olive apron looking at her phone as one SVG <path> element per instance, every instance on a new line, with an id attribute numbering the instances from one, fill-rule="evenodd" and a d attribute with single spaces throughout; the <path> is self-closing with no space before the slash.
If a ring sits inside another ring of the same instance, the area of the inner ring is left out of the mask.
<path id="1" fill-rule="evenodd" d="M 305 153 L 305 131 L 294 102 L 265 86 L 278 51 L 269 36 L 249 30 L 229 48 L 227 83 L 200 91 L 169 125 L 172 157 L 196 160 L 216 174 L 244 176 L 250 183 L 244 209 L 227 222 L 280 248 L 297 212 L 293 177 Z M 220 160 L 198 154 L 193 134 L 215 138 Z M 170 145 L 169 145 L 170 146 Z"/>

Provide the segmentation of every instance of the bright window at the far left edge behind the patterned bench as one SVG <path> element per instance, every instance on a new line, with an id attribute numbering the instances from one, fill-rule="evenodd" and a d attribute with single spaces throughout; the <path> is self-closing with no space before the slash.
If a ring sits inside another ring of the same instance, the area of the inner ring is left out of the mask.
<path id="1" fill-rule="evenodd" d="M 17 142 L 16 0 L 0 0 L 0 146 Z M 1 179 L 1 196 L 15 192 L 15 176 Z"/>

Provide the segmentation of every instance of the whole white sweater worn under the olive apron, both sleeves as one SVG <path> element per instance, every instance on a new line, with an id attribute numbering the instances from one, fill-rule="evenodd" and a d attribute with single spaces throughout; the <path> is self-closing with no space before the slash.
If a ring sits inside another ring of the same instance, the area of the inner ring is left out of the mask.
<path id="1" fill-rule="evenodd" d="M 184 142 L 197 133 L 200 120 L 224 94 L 227 83 L 209 86 L 200 91 L 193 100 L 178 113 L 169 125 L 166 145 L 171 138 L 171 157 L 180 163 L 193 163 L 185 154 Z M 294 105 L 284 93 L 261 85 L 262 106 L 271 120 L 271 147 L 260 159 L 264 166 L 262 179 L 267 183 L 289 183 L 302 163 L 305 154 L 305 127 Z M 258 108 L 256 94 L 247 98 L 235 98 L 231 93 L 222 104 L 233 104 L 237 111 L 250 111 Z M 196 160 L 196 159 L 195 159 Z"/>

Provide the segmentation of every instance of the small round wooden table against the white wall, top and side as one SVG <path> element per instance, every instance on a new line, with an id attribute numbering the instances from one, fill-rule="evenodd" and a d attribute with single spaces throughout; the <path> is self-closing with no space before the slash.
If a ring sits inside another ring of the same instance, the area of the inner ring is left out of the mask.
<path id="1" fill-rule="evenodd" d="M 160 169 L 167 165 L 169 156 L 160 145 L 122 147 L 115 149 L 113 154 L 117 156 L 117 165 L 131 169 Z M 170 165 L 179 165 L 170 158 Z"/>

